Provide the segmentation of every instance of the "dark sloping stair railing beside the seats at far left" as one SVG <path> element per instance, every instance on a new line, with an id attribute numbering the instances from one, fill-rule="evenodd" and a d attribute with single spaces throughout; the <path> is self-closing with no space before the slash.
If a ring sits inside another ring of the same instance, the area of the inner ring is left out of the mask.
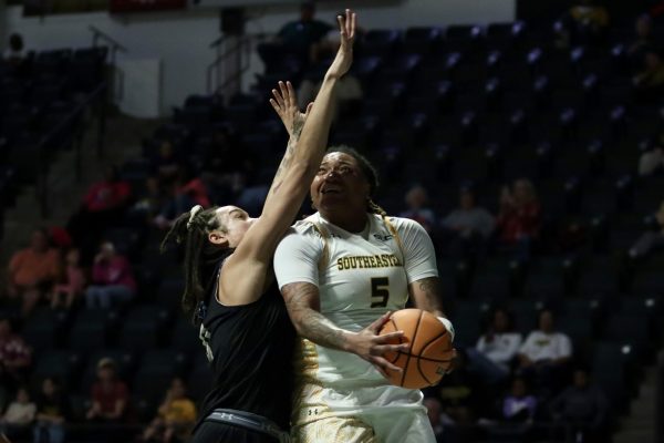
<path id="1" fill-rule="evenodd" d="M 74 148 L 74 173 L 76 182 L 81 181 L 82 158 L 81 147 L 83 145 L 83 134 L 85 125 L 77 122 L 79 119 L 83 119 L 85 111 L 89 107 L 96 105 L 97 114 L 97 134 L 96 134 L 96 153 L 102 156 L 104 153 L 104 134 L 106 131 L 106 95 L 107 95 L 107 83 L 100 84 L 93 92 L 91 92 L 81 103 L 74 107 L 61 122 L 53 126 L 38 143 L 38 159 L 37 164 L 39 169 L 37 173 L 37 199 L 43 217 L 48 217 L 50 213 L 49 208 L 49 173 L 50 173 L 50 158 L 51 152 L 72 144 Z M 62 134 L 66 134 L 68 126 L 74 125 L 71 137 L 60 140 Z"/>

